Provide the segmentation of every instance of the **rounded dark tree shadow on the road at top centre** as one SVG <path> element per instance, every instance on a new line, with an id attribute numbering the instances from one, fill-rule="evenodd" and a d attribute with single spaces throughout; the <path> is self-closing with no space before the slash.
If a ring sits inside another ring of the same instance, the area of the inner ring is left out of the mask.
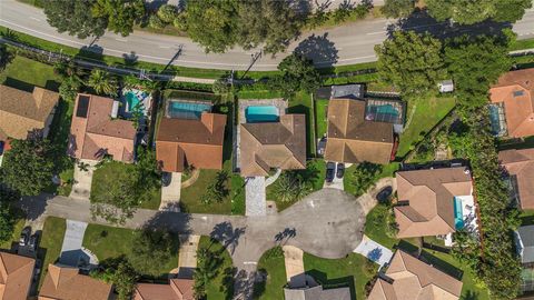
<path id="1" fill-rule="evenodd" d="M 333 41 L 328 39 L 328 32 L 323 36 L 315 33 L 303 40 L 294 50 L 314 61 L 317 68 L 333 68 L 339 56 Z"/>

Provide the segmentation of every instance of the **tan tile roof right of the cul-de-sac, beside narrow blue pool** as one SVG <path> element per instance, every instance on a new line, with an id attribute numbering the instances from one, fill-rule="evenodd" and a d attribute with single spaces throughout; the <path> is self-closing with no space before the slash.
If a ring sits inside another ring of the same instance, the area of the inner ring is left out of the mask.
<path id="1" fill-rule="evenodd" d="M 397 172 L 398 201 L 394 208 L 398 238 L 454 232 L 454 197 L 472 194 L 465 167 Z"/>

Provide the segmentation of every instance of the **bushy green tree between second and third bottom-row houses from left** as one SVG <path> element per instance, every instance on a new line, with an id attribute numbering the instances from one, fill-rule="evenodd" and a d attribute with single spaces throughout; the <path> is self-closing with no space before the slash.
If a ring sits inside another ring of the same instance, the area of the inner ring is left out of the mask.
<path id="1" fill-rule="evenodd" d="M 136 288 L 139 274 L 123 257 L 100 262 L 100 269 L 90 272 L 92 278 L 113 284 L 118 300 L 129 300 Z"/>

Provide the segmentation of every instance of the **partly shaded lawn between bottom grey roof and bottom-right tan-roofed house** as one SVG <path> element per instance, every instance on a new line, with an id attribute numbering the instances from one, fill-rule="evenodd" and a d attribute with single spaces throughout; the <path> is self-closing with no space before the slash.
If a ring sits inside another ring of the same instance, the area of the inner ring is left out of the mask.
<path id="1" fill-rule="evenodd" d="M 366 264 L 373 268 L 366 270 Z M 323 284 L 323 288 L 348 287 L 353 300 L 364 300 L 365 284 L 378 271 L 378 264 L 367 262 L 367 258 L 357 253 L 350 253 L 342 259 L 323 259 L 305 252 L 304 269 Z"/>

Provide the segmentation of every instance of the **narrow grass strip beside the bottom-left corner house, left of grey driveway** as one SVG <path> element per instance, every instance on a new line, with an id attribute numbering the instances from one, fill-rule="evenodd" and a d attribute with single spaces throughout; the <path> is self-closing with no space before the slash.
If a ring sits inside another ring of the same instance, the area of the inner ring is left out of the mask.
<path id="1" fill-rule="evenodd" d="M 42 228 L 41 242 L 39 243 L 39 257 L 42 260 L 39 287 L 42 284 L 42 281 L 47 276 L 48 264 L 55 263 L 61 254 L 61 246 L 63 244 L 66 230 L 67 222 L 65 219 L 47 217 Z"/>

